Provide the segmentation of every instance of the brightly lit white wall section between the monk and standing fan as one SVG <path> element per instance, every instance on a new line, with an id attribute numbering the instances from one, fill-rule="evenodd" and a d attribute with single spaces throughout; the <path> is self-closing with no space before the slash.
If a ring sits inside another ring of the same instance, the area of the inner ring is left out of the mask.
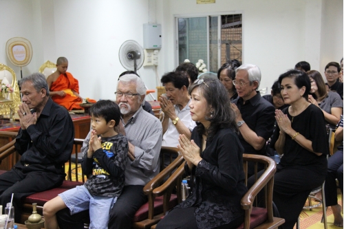
<path id="1" fill-rule="evenodd" d="M 68 71 L 78 78 L 81 96 L 115 98 L 118 76 L 126 70 L 118 50 L 127 40 L 143 45 L 148 6 L 148 0 L 54 1 L 56 56 L 68 58 Z M 142 67 L 138 73 L 155 89 L 153 67 Z"/>

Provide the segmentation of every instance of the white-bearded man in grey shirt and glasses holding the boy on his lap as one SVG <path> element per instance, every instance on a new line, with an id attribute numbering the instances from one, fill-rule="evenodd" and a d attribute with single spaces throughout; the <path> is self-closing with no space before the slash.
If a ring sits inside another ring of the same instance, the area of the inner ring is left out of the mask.
<path id="1" fill-rule="evenodd" d="M 162 125 L 158 118 L 142 109 L 146 90 L 142 80 L 134 74 L 127 74 L 118 80 L 115 94 L 121 113 L 120 133 L 126 135 L 129 150 L 125 188 L 109 212 L 108 227 L 111 229 L 131 228 L 136 211 L 148 200 L 143 193 L 144 185 L 159 173 Z M 70 215 L 68 208 L 65 208 L 56 216 L 61 229 L 81 229 L 83 219 L 88 215 L 88 211 Z"/>

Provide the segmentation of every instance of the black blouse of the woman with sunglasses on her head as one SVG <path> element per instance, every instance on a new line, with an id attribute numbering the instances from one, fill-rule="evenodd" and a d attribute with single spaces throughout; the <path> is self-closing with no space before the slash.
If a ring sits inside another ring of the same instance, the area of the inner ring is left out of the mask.
<path id="1" fill-rule="evenodd" d="M 202 135 L 193 129 L 191 139 L 202 149 Z M 244 184 L 242 154 L 244 148 L 232 129 L 220 129 L 206 142 L 202 161 L 194 167 L 193 192 L 176 208 L 195 206 L 198 228 L 216 228 L 244 215 L 240 201 L 247 188 Z M 185 170 L 189 167 L 185 164 Z"/>

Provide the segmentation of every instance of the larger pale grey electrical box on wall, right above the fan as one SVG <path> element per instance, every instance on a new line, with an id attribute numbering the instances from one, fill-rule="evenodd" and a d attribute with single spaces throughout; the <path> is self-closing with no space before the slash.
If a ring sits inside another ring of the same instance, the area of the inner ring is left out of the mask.
<path id="1" fill-rule="evenodd" d="M 143 48 L 145 50 L 161 49 L 161 25 L 143 24 Z"/>

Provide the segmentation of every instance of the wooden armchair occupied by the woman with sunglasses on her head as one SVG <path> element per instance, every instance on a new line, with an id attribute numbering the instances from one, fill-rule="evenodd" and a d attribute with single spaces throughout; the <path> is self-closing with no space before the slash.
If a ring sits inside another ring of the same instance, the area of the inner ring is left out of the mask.
<path id="1" fill-rule="evenodd" d="M 245 182 L 247 184 L 247 170 L 248 170 L 248 162 L 255 163 L 255 184 L 248 190 L 246 195 L 241 199 L 241 208 L 245 210 L 245 218 L 244 223 L 239 226 L 237 229 L 249 229 L 249 228 L 257 228 L 257 229 L 272 229 L 278 228 L 284 223 L 284 219 L 273 217 L 272 214 L 272 191 L 274 185 L 274 175 L 276 172 L 276 163 L 269 157 L 263 155 L 252 155 L 252 154 L 245 154 L 243 155 L 243 162 L 244 162 L 244 172 L 246 174 Z M 264 164 L 264 173 L 261 177 L 257 178 L 257 168 L 258 164 Z M 184 164 L 182 164 L 184 166 Z M 180 173 L 180 168 L 175 171 L 175 174 L 171 175 L 169 179 L 175 179 L 178 177 Z M 183 168 L 184 169 L 184 168 Z M 183 170 L 184 171 L 184 170 Z M 176 177 L 174 175 L 177 175 Z M 168 181 L 169 182 L 169 181 Z M 164 185 L 168 185 L 169 183 L 165 182 Z M 153 193 L 157 195 L 164 186 L 160 186 L 153 190 Z M 265 207 L 258 208 L 255 207 L 255 197 L 257 194 L 263 191 L 266 199 Z M 155 225 L 151 227 L 152 229 L 155 228 Z"/>

